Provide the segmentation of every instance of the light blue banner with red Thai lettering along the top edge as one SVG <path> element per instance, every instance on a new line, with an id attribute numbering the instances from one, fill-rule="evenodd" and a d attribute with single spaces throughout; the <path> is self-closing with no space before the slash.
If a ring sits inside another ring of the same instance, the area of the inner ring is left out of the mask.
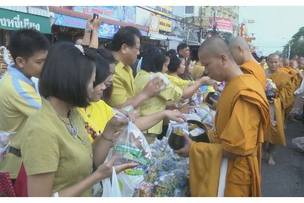
<path id="1" fill-rule="evenodd" d="M 136 6 L 59 6 L 74 10 L 80 13 L 86 13 L 93 16 L 93 13 L 116 21 L 135 24 Z"/>

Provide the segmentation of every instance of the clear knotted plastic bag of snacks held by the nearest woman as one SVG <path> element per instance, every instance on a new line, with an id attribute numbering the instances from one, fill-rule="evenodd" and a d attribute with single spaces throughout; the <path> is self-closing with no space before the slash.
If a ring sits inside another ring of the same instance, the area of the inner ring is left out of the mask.
<path id="1" fill-rule="evenodd" d="M 116 117 L 128 119 L 121 112 L 114 112 Z M 116 165 L 133 161 L 147 166 L 150 164 L 152 157 L 150 147 L 143 133 L 131 121 L 128 121 L 127 126 L 119 136 L 113 154 L 118 155 Z"/>

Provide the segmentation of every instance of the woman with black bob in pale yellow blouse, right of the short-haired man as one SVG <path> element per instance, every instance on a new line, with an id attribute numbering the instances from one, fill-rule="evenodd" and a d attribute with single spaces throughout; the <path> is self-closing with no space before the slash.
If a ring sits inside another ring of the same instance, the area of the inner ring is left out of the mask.
<path id="1" fill-rule="evenodd" d="M 170 58 L 168 57 L 168 53 L 166 51 L 158 48 L 151 49 L 149 54 L 143 57 L 142 69 L 135 78 L 135 94 L 142 91 L 155 73 L 157 73 L 157 75 L 162 75 L 161 73 L 165 73 L 168 69 L 168 64 L 171 63 L 169 61 Z M 165 78 L 166 80 L 165 75 L 162 75 L 161 77 Z M 197 83 L 195 86 L 187 87 L 183 90 L 173 83 L 167 84 L 164 91 L 160 92 L 157 96 L 141 103 L 138 108 L 140 116 L 146 116 L 165 110 L 167 101 L 178 102 L 191 97 L 199 88 L 199 84 L 200 83 Z M 144 131 L 144 135 L 148 143 L 152 143 L 157 135 L 162 133 L 162 124 L 163 122 L 160 121 L 149 130 Z"/>

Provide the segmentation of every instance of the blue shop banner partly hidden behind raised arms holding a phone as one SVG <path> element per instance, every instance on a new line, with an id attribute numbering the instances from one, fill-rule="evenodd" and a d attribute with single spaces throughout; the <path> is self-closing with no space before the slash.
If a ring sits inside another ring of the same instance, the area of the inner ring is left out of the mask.
<path id="1" fill-rule="evenodd" d="M 55 13 L 54 25 L 85 29 L 86 24 L 87 20 L 85 19 Z M 111 39 L 119 28 L 117 25 L 101 23 L 101 27 L 98 29 L 98 37 Z"/>

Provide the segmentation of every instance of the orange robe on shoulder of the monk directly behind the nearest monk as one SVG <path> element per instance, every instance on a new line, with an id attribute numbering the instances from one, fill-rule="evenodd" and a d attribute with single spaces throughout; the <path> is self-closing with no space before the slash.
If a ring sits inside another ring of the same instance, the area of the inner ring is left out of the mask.
<path id="1" fill-rule="evenodd" d="M 265 89 L 266 75 L 264 69 L 261 67 L 259 63 L 250 60 L 240 65 L 240 69 L 244 74 L 253 75 L 261 83 L 262 87 Z"/>

